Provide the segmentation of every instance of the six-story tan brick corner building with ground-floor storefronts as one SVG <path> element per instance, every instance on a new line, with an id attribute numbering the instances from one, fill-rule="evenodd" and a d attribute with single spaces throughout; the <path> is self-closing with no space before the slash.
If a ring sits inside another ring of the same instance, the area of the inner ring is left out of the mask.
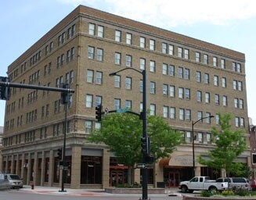
<path id="1" fill-rule="evenodd" d="M 100 127 L 96 105 L 142 109 L 141 74 L 126 70 L 109 77 L 126 67 L 146 70 L 147 109 L 184 131 L 186 140 L 170 158 L 148 169 L 151 186 L 166 180 L 174 180 L 168 186 L 177 186 L 192 176 L 193 121 L 215 116 L 194 126 L 196 158 L 215 147 L 211 127 L 218 126 L 218 112 L 233 113 L 230 123 L 234 129 L 244 128 L 248 138 L 243 53 L 80 5 L 8 67 L 12 82 L 50 87 L 67 83 L 75 91 L 67 109 L 67 187 L 104 188 L 127 181 L 127 166 L 117 163 L 105 145 L 86 142 Z M 63 108 L 58 92 L 12 88 L 5 109 L 3 171 L 19 174 L 24 184 L 59 185 Z M 237 160 L 250 165 L 250 150 Z M 214 176 L 197 161 L 195 166 L 197 175 Z M 135 170 L 135 181 L 139 177 Z"/>

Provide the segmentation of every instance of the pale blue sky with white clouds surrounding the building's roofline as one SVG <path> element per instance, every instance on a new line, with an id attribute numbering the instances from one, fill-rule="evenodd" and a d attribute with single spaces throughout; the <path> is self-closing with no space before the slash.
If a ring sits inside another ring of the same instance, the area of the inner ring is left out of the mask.
<path id="1" fill-rule="evenodd" d="M 255 0 L 2 0 L 0 77 L 6 77 L 8 66 L 78 5 L 244 53 L 248 116 L 256 125 Z M 0 126 L 3 126 L 3 100 L 0 100 L 0 112 Z"/>

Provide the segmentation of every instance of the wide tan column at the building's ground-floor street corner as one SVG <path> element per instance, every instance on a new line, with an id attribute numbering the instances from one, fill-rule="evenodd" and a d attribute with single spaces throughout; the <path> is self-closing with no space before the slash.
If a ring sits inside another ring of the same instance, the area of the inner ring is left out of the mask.
<path id="1" fill-rule="evenodd" d="M 80 189 L 81 179 L 81 146 L 72 147 L 72 163 L 71 163 L 71 183 L 72 189 Z"/>

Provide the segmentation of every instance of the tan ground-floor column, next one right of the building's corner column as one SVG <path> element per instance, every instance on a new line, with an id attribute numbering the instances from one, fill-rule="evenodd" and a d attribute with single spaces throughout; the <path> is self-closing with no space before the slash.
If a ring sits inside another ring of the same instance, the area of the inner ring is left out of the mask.
<path id="1" fill-rule="evenodd" d="M 103 149 L 103 188 L 110 187 L 110 152 Z"/>

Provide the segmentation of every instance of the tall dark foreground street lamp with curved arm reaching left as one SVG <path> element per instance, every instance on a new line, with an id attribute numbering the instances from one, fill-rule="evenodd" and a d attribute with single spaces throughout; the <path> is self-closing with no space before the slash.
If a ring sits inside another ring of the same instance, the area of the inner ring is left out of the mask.
<path id="1" fill-rule="evenodd" d="M 138 73 L 142 74 L 142 82 L 143 82 L 143 97 L 142 97 L 142 138 L 147 138 L 147 132 L 146 132 L 146 124 L 147 124 L 147 119 L 146 119 L 146 70 L 136 70 L 134 68 L 124 68 L 122 70 L 118 70 L 117 72 L 110 73 L 109 76 L 113 77 L 117 75 L 117 73 L 124 71 L 124 70 L 135 70 Z M 149 148 L 149 144 L 147 144 L 146 148 Z M 150 150 L 148 150 L 146 153 L 142 154 L 143 162 L 146 163 L 146 156 L 150 154 Z M 147 195 L 147 169 L 142 168 L 142 200 L 147 200 L 148 195 Z"/>

